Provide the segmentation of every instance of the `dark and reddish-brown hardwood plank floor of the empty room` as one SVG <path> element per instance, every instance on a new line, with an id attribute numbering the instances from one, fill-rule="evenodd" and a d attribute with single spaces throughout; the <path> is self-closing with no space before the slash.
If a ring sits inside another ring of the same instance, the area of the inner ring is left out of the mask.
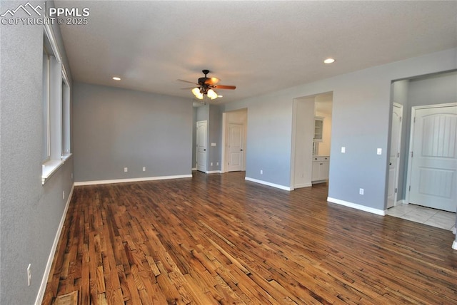
<path id="1" fill-rule="evenodd" d="M 243 172 L 75 187 L 43 304 L 456 304 L 451 231 Z"/>

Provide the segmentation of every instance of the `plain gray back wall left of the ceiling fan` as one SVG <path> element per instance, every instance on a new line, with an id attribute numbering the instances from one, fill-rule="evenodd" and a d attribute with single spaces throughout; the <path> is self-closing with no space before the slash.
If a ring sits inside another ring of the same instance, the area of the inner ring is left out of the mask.
<path id="1" fill-rule="evenodd" d="M 191 175 L 189 99 L 75 83 L 73 109 L 76 182 Z"/>

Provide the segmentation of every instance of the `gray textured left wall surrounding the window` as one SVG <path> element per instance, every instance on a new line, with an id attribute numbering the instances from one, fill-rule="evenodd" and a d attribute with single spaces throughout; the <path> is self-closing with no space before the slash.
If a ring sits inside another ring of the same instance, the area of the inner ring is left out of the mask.
<path id="1" fill-rule="evenodd" d="M 1 1 L 0 11 L 20 3 Z M 55 33 L 64 52 L 58 27 Z M 1 26 L 1 304 L 34 304 L 73 185 L 72 158 L 41 185 L 43 35 L 43 26 Z"/>

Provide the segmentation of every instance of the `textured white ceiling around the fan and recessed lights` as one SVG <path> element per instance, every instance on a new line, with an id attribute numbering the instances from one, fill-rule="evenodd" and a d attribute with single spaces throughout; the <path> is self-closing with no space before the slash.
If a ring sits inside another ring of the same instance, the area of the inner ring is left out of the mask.
<path id="1" fill-rule="evenodd" d="M 191 99 L 206 68 L 219 103 L 457 47 L 457 1 L 54 3 L 90 11 L 61 25 L 75 81 Z"/>

